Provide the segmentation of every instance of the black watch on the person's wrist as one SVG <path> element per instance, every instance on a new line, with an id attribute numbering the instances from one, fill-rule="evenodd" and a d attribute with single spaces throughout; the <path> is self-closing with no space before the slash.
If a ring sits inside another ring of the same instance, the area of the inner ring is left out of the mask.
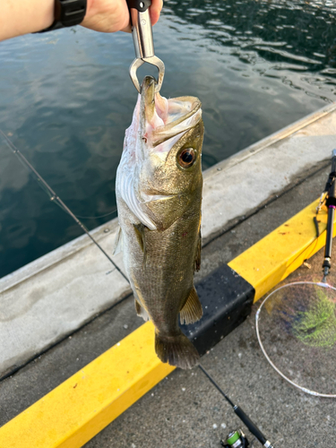
<path id="1" fill-rule="evenodd" d="M 86 13 L 86 0 L 55 0 L 54 23 L 38 32 L 59 30 L 60 28 L 79 25 L 84 20 Z"/>

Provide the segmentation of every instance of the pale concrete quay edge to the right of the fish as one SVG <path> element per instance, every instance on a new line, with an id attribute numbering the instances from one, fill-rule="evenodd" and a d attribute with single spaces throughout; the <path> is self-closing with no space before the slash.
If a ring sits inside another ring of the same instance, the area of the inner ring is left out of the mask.
<path id="1" fill-rule="evenodd" d="M 328 105 L 257 142 L 204 176 L 203 243 L 297 185 L 336 146 L 336 105 Z"/>

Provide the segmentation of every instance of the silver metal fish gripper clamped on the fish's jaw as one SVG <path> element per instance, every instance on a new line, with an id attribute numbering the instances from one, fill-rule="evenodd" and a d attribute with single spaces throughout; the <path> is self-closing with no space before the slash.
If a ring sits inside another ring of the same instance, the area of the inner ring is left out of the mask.
<path id="1" fill-rule="evenodd" d="M 150 6 L 151 0 L 127 0 L 132 23 L 132 35 L 134 41 L 135 59 L 130 66 L 130 76 L 135 89 L 141 93 L 141 86 L 138 81 L 136 71 L 145 62 L 155 65 L 159 70 L 156 80 L 155 91 L 161 89 L 165 65 L 154 54 L 153 33 L 151 30 Z"/>

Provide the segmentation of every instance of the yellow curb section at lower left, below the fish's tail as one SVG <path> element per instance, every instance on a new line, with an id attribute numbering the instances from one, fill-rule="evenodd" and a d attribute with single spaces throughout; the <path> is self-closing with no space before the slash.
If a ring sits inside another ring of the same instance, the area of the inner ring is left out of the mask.
<path id="1" fill-rule="evenodd" d="M 144 323 L 0 428 L 1 448 L 77 448 L 98 434 L 175 367 L 154 351 Z"/>

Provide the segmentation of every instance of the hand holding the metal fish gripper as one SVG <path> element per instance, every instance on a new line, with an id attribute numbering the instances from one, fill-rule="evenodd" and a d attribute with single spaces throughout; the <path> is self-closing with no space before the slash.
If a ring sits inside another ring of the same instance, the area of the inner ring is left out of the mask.
<path id="1" fill-rule="evenodd" d="M 151 0 L 151 24 L 159 21 L 162 0 Z M 81 25 L 101 32 L 131 31 L 126 0 L 88 0 L 86 15 Z"/>

